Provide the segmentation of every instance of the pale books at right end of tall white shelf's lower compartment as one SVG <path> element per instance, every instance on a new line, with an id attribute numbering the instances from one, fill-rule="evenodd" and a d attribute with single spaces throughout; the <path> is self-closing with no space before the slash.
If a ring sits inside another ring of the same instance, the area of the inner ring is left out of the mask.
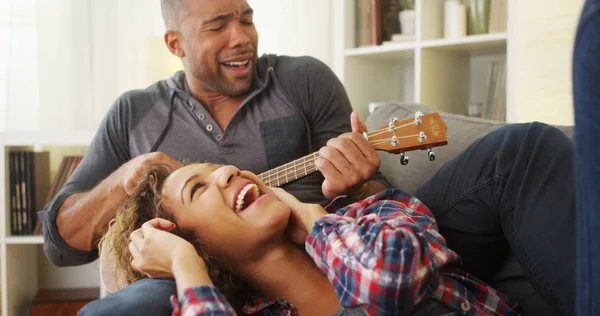
<path id="1" fill-rule="evenodd" d="M 488 67 L 487 94 L 482 117 L 506 121 L 506 62 L 492 62 Z"/>

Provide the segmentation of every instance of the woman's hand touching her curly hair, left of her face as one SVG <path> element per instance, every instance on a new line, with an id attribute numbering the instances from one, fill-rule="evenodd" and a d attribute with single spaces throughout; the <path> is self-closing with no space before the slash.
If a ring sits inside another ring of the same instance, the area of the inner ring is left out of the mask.
<path id="1" fill-rule="evenodd" d="M 162 218 L 147 221 L 131 233 L 129 252 L 133 256 L 131 266 L 150 278 L 173 278 L 174 266 L 182 260 L 194 261 L 203 270 L 206 263 L 194 246 L 170 231 L 175 224 Z"/>

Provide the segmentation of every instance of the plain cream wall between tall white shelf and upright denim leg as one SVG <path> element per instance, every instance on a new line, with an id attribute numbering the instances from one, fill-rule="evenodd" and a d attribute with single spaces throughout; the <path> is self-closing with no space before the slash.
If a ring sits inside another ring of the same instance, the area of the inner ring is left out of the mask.
<path id="1" fill-rule="evenodd" d="M 509 120 L 573 124 L 571 56 L 583 2 L 513 2 L 510 46 L 514 49 L 515 106 L 514 113 L 508 113 Z"/>

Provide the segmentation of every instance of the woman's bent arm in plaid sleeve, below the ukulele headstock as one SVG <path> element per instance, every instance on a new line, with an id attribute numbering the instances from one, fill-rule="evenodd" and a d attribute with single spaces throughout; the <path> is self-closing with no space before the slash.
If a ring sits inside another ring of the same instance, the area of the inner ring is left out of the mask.
<path id="1" fill-rule="evenodd" d="M 369 314 L 407 313 L 457 263 L 431 212 L 416 198 L 387 190 L 319 218 L 306 250 L 335 286 L 344 307 Z"/>

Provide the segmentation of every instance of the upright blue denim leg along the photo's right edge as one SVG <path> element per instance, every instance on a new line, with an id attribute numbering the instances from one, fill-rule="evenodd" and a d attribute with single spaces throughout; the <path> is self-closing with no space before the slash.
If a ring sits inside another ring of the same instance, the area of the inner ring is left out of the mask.
<path id="1" fill-rule="evenodd" d="M 600 315 L 600 0 L 588 0 L 573 54 L 577 315 Z"/>

